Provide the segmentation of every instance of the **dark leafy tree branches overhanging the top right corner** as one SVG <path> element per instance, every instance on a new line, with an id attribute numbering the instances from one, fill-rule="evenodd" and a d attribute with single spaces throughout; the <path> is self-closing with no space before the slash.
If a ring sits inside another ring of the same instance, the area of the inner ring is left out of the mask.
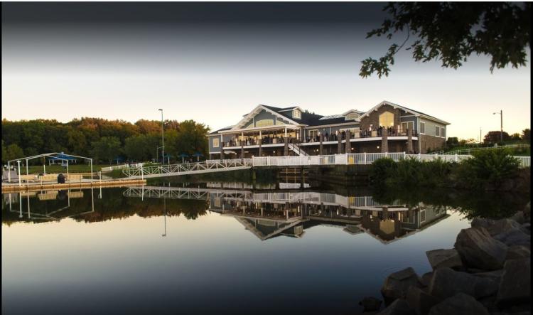
<path id="1" fill-rule="evenodd" d="M 394 55 L 407 45 L 416 61 L 441 60 L 443 68 L 457 69 L 470 55 L 489 55 L 494 68 L 526 65 L 530 46 L 531 3 L 508 2 L 393 2 L 383 11 L 387 18 L 380 28 L 367 33 L 386 36 L 404 33 L 401 44 L 393 43 L 379 60 L 362 60 L 360 76 L 388 76 Z M 410 36 L 416 37 L 410 41 Z"/>

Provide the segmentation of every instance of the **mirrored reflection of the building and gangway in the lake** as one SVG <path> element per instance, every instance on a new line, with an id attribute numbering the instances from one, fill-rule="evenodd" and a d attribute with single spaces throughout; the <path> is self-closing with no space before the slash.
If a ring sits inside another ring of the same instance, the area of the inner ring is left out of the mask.
<path id="1" fill-rule="evenodd" d="M 213 185 L 208 185 L 213 186 Z M 234 185 L 232 185 L 234 186 Z M 222 187 L 222 185 L 220 185 Z M 239 188 L 247 188 L 240 186 Z M 448 216 L 443 206 L 377 203 L 372 196 L 340 196 L 317 191 L 255 192 L 246 189 L 143 186 L 126 197 L 207 200 L 209 210 L 230 215 L 260 240 L 281 235 L 302 237 L 305 230 L 328 225 L 350 234 L 368 233 L 388 243 Z"/>

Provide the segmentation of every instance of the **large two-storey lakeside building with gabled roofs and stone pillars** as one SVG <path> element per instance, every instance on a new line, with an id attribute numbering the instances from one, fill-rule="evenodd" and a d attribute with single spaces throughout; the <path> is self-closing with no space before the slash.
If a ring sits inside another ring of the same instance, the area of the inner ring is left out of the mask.
<path id="1" fill-rule="evenodd" d="M 237 124 L 208 134 L 210 159 L 342 153 L 426 153 L 446 142 L 448 122 L 383 101 L 367 112 L 322 116 L 258 105 Z M 349 141 L 348 141 L 349 139 Z"/>

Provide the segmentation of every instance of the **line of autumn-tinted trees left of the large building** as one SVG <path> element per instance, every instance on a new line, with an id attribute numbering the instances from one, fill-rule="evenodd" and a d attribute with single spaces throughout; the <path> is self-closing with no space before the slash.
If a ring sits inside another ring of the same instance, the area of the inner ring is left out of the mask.
<path id="1" fill-rule="evenodd" d="M 194 120 L 163 122 L 165 155 L 208 155 L 209 127 Z M 2 119 L 2 163 L 23 156 L 65 152 L 91 157 L 95 163 L 161 160 L 161 122 L 83 117 L 70 122 L 55 119 Z M 37 164 L 39 161 L 33 161 Z M 41 161 L 42 163 L 42 161 Z"/>

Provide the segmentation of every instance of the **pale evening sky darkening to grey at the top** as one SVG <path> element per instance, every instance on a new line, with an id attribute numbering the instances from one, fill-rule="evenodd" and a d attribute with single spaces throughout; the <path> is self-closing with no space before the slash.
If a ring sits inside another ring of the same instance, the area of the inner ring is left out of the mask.
<path id="1" fill-rule="evenodd" d="M 2 118 L 194 119 L 211 130 L 259 104 L 317 114 L 383 100 L 478 139 L 531 124 L 525 67 L 473 56 L 458 70 L 397 55 L 387 78 L 360 78 L 402 34 L 365 38 L 384 3 L 2 3 Z M 395 41 L 394 41 L 395 40 Z"/>

